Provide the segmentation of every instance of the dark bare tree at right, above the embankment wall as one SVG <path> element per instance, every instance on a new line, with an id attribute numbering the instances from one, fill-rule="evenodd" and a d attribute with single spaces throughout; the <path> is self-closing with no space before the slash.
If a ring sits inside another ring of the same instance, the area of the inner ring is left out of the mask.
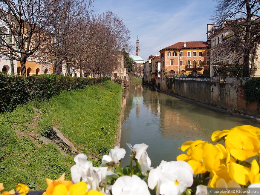
<path id="1" fill-rule="evenodd" d="M 243 76 L 251 76 L 256 57 L 256 47 L 259 44 L 259 0 L 215 0 L 217 10 L 213 20 L 219 29 L 227 29 L 230 35 L 218 50 L 233 52 L 235 61 L 242 60 Z M 216 50 L 217 51 L 217 50 Z M 250 61 L 251 57 L 251 61 Z M 249 67 L 251 65 L 251 70 Z"/>

